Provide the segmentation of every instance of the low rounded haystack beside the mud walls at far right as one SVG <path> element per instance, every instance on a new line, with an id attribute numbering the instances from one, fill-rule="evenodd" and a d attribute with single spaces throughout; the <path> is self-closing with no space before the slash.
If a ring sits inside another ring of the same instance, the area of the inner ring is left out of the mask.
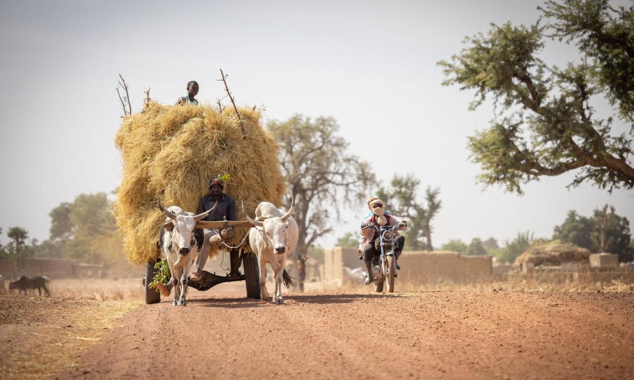
<path id="1" fill-rule="evenodd" d="M 585 248 L 553 240 L 547 243 L 534 243 L 515 259 L 515 263 L 533 263 L 537 267 L 562 263 L 587 263 L 588 260 L 590 260 L 590 251 Z"/>

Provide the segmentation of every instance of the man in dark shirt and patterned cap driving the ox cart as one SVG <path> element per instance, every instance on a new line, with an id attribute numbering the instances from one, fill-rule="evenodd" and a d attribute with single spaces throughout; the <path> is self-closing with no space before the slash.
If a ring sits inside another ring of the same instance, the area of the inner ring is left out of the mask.
<path id="1" fill-rule="evenodd" d="M 210 194 L 205 195 L 200 198 L 198 202 L 198 210 L 197 214 L 204 213 L 206 210 L 210 210 L 214 204 L 217 202 L 217 207 L 214 212 L 212 212 L 207 218 L 203 220 L 209 221 L 222 221 L 222 220 L 238 220 L 238 208 L 236 205 L 236 201 L 231 198 L 229 194 L 224 194 L 224 182 L 227 181 L 229 175 L 226 174 L 223 177 L 214 178 L 209 181 L 209 190 Z M 202 210 L 202 212 L 200 212 Z M 204 239 L 202 248 L 200 250 L 200 254 L 196 260 L 196 272 L 191 274 L 190 280 L 197 282 L 202 279 L 202 270 L 205 267 L 205 263 L 207 262 L 207 258 L 209 257 L 209 252 L 212 248 L 217 250 L 226 239 L 232 238 L 234 235 L 233 227 L 230 227 L 225 230 L 221 230 L 220 232 L 214 229 L 204 229 Z M 169 296 L 172 291 L 172 281 L 169 284 L 161 284 L 157 282 L 157 289 L 159 289 L 160 293 L 164 296 Z"/>

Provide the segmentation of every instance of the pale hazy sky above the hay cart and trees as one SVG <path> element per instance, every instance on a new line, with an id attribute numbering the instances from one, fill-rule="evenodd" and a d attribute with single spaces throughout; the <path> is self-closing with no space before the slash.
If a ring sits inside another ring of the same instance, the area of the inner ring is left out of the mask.
<path id="1" fill-rule="evenodd" d="M 467 111 L 473 93 L 442 87 L 436 63 L 489 23 L 533 23 L 541 1 L 3 1 L 0 4 L 0 227 L 48 238 L 51 208 L 80 193 L 110 192 L 121 163 L 113 144 L 117 74 L 138 110 L 143 89 L 174 103 L 188 80 L 201 100 L 223 96 L 218 68 L 242 105 L 266 120 L 294 113 L 335 117 L 350 152 L 380 179 L 413 173 L 441 188 L 434 245 L 518 231 L 550 237 L 571 209 L 590 215 L 610 203 L 634 221 L 634 192 L 611 195 L 573 175 L 545 178 L 526 195 L 482 191 L 467 136 L 488 126 L 491 106 Z M 614 4 L 630 4 L 628 1 Z M 575 60 L 552 43 L 543 58 Z M 598 113 L 609 115 L 603 99 Z M 625 130 L 616 123 L 616 130 Z M 373 149 L 373 141 L 385 141 Z M 398 162 L 384 160 L 385 151 Z M 370 195 L 370 194 L 368 194 Z M 345 214 L 333 244 L 366 212 Z M 6 243 L 6 236 L 2 237 Z"/>

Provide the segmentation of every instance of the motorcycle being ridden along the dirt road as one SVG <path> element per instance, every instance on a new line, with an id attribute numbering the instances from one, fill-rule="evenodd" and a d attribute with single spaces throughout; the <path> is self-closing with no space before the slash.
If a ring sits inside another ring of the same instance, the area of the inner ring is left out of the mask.
<path id="1" fill-rule="evenodd" d="M 396 225 L 384 225 L 380 228 L 373 224 L 362 227 L 362 229 L 373 228 L 378 231 L 377 241 L 381 248 L 381 254 L 372 260 L 373 282 L 377 293 L 382 293 L 385 282 L 387 282 L 387 292 L 394 292 L 396 277 L 396 235 L 394 232 L 402 230 L 404 227 L 407 227 L 404 222 L 399 222 Z M 367 272 L 363 272 L 363 276 L 367 277 L 367 275 Z"/>

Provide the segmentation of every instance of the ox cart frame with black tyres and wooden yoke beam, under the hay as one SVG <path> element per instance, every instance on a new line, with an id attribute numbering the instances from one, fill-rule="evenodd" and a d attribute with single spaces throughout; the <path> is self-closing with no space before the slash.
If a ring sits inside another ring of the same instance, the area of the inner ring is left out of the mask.
<path id="1" fill-rule="evenodd" d="M 217 222 L 209 222 L 201 220 L 197 222 L 195 228 L 200 229 L 228 229 L 233 227 L 235 229 L 249 229 L 253 227 L 250 222 L 246 220 L 221 220 Z M 143 286 L 145 288 L 145 303 L 159 303 L 160 292 L 157 289 L 150 288 L 150 283 L 153 281 L 158 269 L 155 269 L 156 260 L 148 260 L 145 267 L 145 279 Z M 202 271 L 202 278 L 200 281 L 193 282 L 188 281 L 188 286 L 197 289 L 199 291 L 209 290 L 217 284 L 223 282 L 244 281 L 247 288 L 247 298 L 260 298 L 260 270 L 257 263 L 257 257 L 254 253 L 245 250 L 244 241 L 238 247 L 230 248 L 230 272 L 226 276 L 217 276 L 215 273 L 209 273 L 206 270 Z M 195 265 L 195 264 L 194 264 Z M 240 266 L 242 265 L 244 273 L 240 273 Z"/>

